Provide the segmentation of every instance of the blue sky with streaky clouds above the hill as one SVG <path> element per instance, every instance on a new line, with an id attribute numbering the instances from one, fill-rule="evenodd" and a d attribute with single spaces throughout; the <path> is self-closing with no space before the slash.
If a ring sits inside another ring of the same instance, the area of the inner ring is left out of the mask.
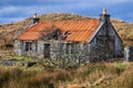
<path id="1" fill-rule="evenodd" d="M 68 12 L 99 16 L 106 8 L 112 18 L 133 22 L 133 0 L 1 0 L 0 24 L 38 14 Z"/>

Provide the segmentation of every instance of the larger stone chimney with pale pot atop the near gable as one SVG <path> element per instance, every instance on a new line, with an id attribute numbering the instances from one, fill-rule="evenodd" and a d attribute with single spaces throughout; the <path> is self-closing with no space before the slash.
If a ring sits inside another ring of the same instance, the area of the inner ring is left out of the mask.
<path id="1" fill-rule="evenodd" d="M 110 14 L 106 13 L 106 9 L 103 9 L 103 13 L 100 14 L 100 23 L 101 22 L 110 22 Z"/>

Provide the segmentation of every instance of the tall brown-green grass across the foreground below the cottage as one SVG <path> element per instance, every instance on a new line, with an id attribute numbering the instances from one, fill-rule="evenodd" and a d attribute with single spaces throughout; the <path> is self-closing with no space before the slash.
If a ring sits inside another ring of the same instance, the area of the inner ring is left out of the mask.
<path id="1" fill-rule="evenodd" d="M 125 62 L 96 63 L 53 72 L 43 66 L 0 66 L 0 88 L 132 88 L 132 66 Z"/>

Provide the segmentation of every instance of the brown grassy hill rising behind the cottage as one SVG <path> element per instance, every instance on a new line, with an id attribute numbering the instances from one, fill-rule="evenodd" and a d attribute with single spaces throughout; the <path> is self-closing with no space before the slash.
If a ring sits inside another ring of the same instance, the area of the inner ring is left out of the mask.
<path id="1" fill-rule="evenodd" d="M 38 15 L 40 21 L 62 21 L 62 20 L 86 20 L 86 19 L 98 19 L 89 18 L 84 15 L 73 14 L 73 13 L 48 13 Z M 112 24 L 119 32 L 120 36 L 123 38 L 124 44 L 133 45 L 133 24 L 124 22 L 123 20 L 111 20 Z M 0 25 L 0 46 L 6 44 L 12 44 L 12 38 L 19 33 L 24 26 L 30 24 L 31 18 L 25 19 L 24 21 L 13 22 L 10 24 Z"/>

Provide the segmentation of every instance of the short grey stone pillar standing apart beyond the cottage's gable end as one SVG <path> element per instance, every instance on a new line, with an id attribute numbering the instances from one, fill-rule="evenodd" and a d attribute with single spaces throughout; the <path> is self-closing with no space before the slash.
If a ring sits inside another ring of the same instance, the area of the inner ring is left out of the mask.
<path id="1" fill-rule="evenodd" d="M 126 62 L 133 62 L 133 46 L 124 47 L 124 59 Z"/>

